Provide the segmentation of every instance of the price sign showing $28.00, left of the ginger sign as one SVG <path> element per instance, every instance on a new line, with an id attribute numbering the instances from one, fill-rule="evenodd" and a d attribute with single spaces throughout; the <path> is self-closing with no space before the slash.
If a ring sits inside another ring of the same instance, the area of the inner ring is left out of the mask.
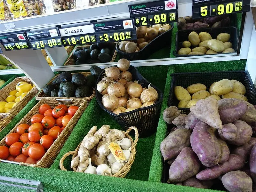
<path id="1" fill-rule="evenodd" d="M 58 28 L 27 32 L 33 49 L 63 46 Z"/>

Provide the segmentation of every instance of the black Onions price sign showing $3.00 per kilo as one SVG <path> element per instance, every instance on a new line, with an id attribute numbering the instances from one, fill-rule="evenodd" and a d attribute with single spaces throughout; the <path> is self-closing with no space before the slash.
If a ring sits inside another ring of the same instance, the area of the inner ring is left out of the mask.
<path id="1" fill-rule="evenodd" d="M 93 23 L 97 42 L 137 39 L 133 19 Z"/>

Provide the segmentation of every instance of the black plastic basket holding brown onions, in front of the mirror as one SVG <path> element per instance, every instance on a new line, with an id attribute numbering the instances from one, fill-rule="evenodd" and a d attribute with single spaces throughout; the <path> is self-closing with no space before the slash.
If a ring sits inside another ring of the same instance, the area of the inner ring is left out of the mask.
<path id="1" fill-rule="evenodd" d="M 138 81 L 142 87 L 148 87 L 149 82 L 139 73 L 135 67 L 130 66 L 128 71 L 132 73 L 133 80 Z M 103 73 L 105 73 L 105 71 L 101 72 L 97 83 L 102 79 Z M 150 84 L 150 86 L 155 88 L 158 93 L 158 100 L 154 105 L 145 108 L 139 108 L 126 113 L 120 113 L 119 115 L 116 115 L 108 109 L 104 108 L 101 103 L 102 95 L 98 91 L 96 91 L 96 100 L 100 107 L 106 111 L 114 120 L 116 120 L 116 122 L 121 127 L 124 127 L 127 130 L 129 127 L 135 126 L 139 131 L 140 137 L 148 137 L 156 132 L 161 111 L 161 103 L 163 101 L 163 93 L 154 85 Z"/>

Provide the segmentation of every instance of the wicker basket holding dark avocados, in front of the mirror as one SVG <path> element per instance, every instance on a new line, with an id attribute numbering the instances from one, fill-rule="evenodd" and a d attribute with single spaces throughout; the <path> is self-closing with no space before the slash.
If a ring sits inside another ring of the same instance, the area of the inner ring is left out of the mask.
<path id="1" fill-rule="evenodd" d="M 72 75 L 73 75 L 73 74 L 75 74 L 75 73 L 72 73 Z M 89 75 L 91 75 L 91 72 L 81 72 L 81 74 L 83 74 L 84 76 L 89 76 Z M 59 74 L 58 74 L 58 75 L 59 75 Z M 52 81 L 53 81 L 58 75 L 54 76 L 54 77 L 52 78 L 52 80 L 49 81 L 48 84 L 51 84 Z M 44 93 L 44 91 L 43 91 L 43 89 L 42 89 L 42 90 L 36 95 L 36 100 L 41 100 L 41 99 L 44 99 L 44 98 L 53 98 L 53 99 L 61 99 L 61 100 L 66 100 L 66 99 L 84 99 L 84 100 L 87 100 L 87 102 L 89 103 L 89 102 L 92 100 L 92 98 L 94 98 L 94 96 L 95 96 L 95 89 L 93 90 L 92 95 L 91 95 L 90 97 L 84 97 L 84 98 L 77 98 L 77 97 L 69 97 L 69 98 L 67 98 L 67 97 L 49 97 L 49 96 L 47 96 L 47 95 Z"/>

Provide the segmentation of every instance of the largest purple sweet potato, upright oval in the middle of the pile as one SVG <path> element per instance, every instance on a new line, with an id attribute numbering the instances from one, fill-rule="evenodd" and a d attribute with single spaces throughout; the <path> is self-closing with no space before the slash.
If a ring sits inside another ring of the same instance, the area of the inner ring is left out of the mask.
<path id="1" fill-rule="evenodd" d="M 206 167 L 212 167 L 218 164 L 221 158 L 220 143 L 214 131 L 214 128 L 200 121 L 196 124 L 190 136 L 193 151 Z"/>

